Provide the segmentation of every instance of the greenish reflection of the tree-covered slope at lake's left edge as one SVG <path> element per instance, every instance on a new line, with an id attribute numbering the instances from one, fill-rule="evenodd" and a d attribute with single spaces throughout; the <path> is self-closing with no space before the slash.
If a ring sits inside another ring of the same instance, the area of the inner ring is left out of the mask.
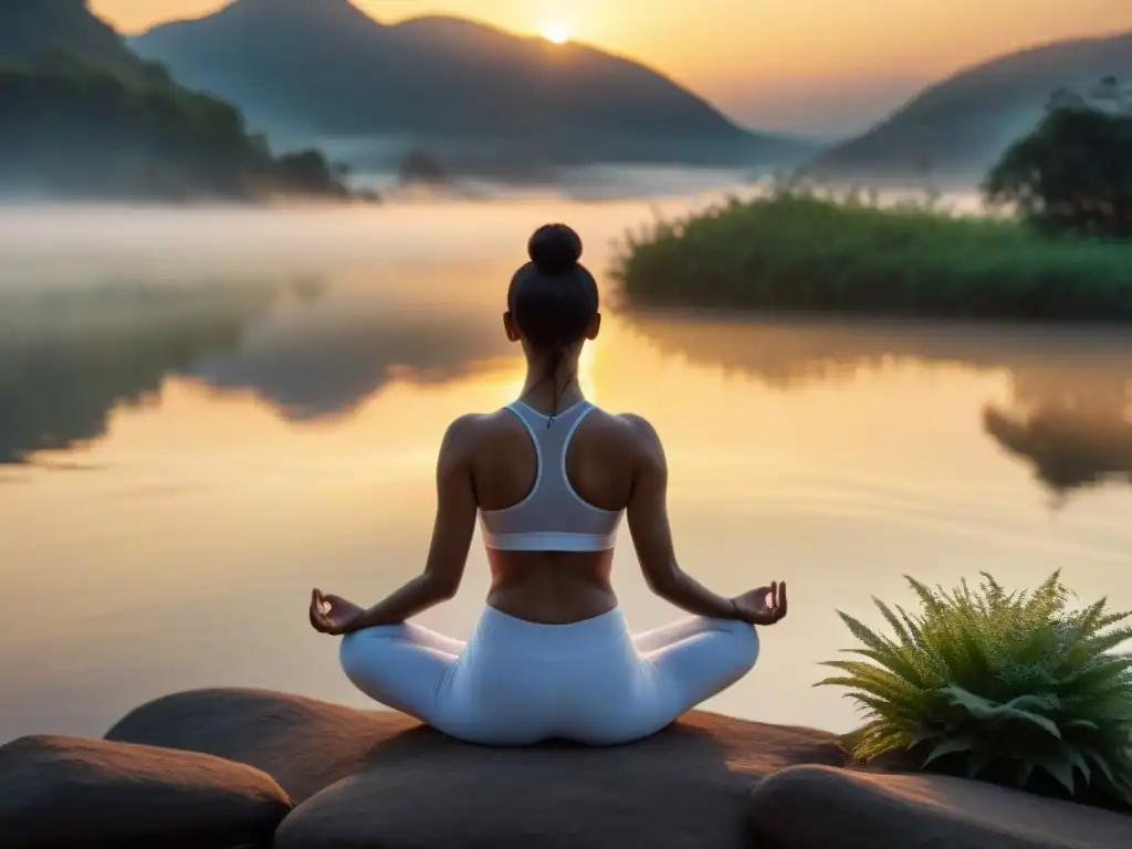
<path id="1" fill-rule="evenodd" d="M 112 410 L 153 400 L 169 375 L 237 346 L 271 294 L 214 284 L 0 291 L 0 464 L 100 438 Z"/>

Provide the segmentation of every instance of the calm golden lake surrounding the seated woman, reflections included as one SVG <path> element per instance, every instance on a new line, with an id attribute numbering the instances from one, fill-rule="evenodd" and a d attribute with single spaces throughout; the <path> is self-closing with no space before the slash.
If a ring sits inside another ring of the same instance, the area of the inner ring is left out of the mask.
<path id="1" fill-rule="evenodd" d="M 567 221 L 603 278 L 626 228 L 702 201 L 0 209 L 0 740 L 192 687 L 366 705 L 310 588 L 372 603 L 422 567 L 445 427 L 521 384 L 499 316 L 528 234 Z M 709 707 L 852 727 L 812 686 L 852 644 L 835 611 L 877 623 L 904 574 L 1062 568 L 1132 608 L 1126 331 L 606 312 L 583 385 L 666 440 L 685 569 L 790 582 Z M 617 561 L 634 627 L 683 615 L 627 533 Z M 486 588 L 477 542 L 421 621 L 466 635 Z"/>

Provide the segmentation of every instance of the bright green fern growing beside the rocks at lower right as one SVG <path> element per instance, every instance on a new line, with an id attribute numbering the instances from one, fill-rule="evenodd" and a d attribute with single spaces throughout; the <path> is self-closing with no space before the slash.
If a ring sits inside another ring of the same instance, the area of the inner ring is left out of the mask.
<path id="1" fill-rule="evenodd" d="M 852 754 L 893 752 L 921 767 L 1027 788 L 1041 773 L 1070 794 L 1095 788 L 1132 805 L 1132 638 L 1130 614 L 1104 600 L 1066 609 L 1054 573 L 1032 593 L 1007 593 L 984 574 L 951 593 L 908 578 L 919 615 L 874 600 L 895 637 L 840 614 L 864 648 L 861 660 L 831 661 L 842 675 L 817 686 L 847 687 L 869 715 Z M 866 662 L 871 661 L 871 662 Z"/>

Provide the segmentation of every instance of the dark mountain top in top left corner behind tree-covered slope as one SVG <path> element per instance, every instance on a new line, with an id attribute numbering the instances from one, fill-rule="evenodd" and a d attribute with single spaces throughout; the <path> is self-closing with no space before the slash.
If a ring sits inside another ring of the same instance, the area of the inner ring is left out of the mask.
<path id="1" fill-rule="evenodd" d="M 86 0 L 0 0 L 0 60 L 28 62 L 58 51 L 120 75 L 143 72 L 143 62 Z"/>

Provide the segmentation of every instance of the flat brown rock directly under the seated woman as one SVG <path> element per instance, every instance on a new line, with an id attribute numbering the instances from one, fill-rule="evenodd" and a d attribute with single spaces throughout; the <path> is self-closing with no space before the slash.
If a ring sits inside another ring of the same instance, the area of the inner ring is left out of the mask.
<path id="1" fill-rule="evenodd" d="M 841 763 L 813 731 L 705 713 L 629 746 L 487 749 L 419 730 L 301 805 L 277 849 L 746 849 L 752 788 L 791 763 Z"/>

